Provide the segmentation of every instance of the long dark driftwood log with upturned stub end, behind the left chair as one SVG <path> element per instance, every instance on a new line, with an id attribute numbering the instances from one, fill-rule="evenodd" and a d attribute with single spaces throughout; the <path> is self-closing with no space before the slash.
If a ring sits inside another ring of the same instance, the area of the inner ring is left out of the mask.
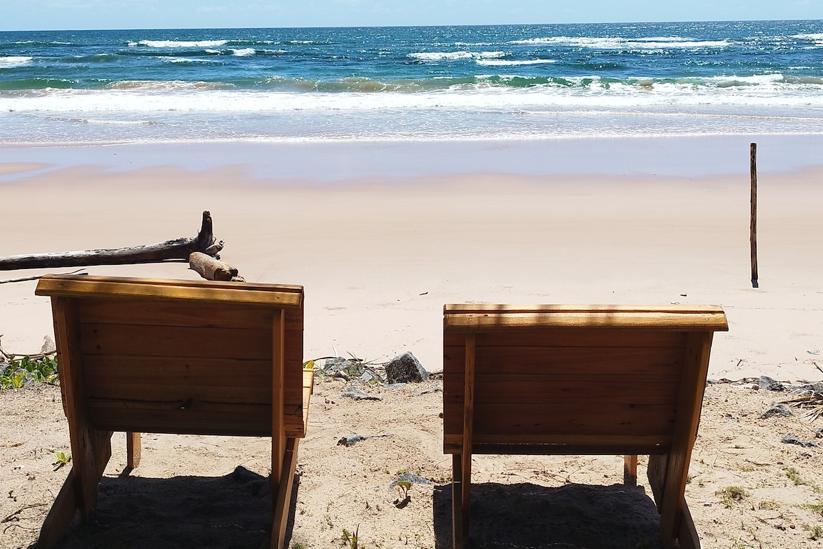
<path id="1" fill-rule="evenodd" d="M 197 236 L 166 240 L 132 248 L 90 249 L 55 254 L 10 255 L 0 257 L 0 271 L 15 269 L 86 267 L 88 265 L 128 265 L 133 263 L 160 263 L 187 261 L 193 252 L 218 257 L 223 241 L 216 242 L 212 233 L 212 214 L 203 212 L 202 226 Z"/>

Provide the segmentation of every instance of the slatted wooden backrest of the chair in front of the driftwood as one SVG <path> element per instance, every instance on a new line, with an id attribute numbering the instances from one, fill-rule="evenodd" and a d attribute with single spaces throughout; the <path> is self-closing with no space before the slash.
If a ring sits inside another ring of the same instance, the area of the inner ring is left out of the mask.
<path id="1" fill-rule="evenodd" d="M 72 367 L 101 430 L 272 435 L 272 327 L 285 311 L 278 406 L 286 436 L 305 435 L 300 286 L 49 277 L 37 293 L 72 311 Z"/>

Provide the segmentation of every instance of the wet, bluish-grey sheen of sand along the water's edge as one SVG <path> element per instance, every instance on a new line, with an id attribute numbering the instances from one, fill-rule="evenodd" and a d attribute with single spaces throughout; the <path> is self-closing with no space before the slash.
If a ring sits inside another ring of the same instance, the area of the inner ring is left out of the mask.
<path id="1" fill-rule="evenodd" d="M 0 165 L 31 168 L 0 171 L 0 185 L 78 165 L 115 173 L 156 166 L 235 169 L 247 183 L 259 179 L 264 184 L 319 185 L 464 174 L 747 177 L 752 142 L 758 144 L 758 170 L 763 174 L 788 174 L 821 164 L 823 134 L 0 144 Z"/>

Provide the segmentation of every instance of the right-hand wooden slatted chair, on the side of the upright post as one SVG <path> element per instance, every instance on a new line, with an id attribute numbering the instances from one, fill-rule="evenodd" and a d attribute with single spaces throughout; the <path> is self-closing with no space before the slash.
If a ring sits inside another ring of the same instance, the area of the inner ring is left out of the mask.
<path id="1" fill-rule="evenodd" d="M 649 454 L 664 547 L 700 547 L 684 493 L 714 306 L 445 305 L 444 453 L 453 542 L 469 534 L 472 454 Z"/>

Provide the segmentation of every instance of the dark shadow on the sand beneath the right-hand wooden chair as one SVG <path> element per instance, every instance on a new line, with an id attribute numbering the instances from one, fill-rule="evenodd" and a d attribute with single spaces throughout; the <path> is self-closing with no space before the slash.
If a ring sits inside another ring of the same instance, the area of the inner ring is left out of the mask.
<path id="1" fill-rule="evenodd" d="M 435 487 L 437 549 L 452 547 L 452 486 Z M 642 487 L 472 483 L 469 547 L 658 549 L 660 517 Z"/>

